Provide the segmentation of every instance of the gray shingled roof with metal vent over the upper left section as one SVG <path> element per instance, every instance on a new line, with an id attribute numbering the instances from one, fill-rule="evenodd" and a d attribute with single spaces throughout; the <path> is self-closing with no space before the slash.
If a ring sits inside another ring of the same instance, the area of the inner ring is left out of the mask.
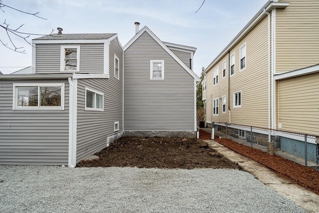
<path id="1" fill-rule="evenodd" d="M 33 40 L 109 39 L 116 33 L 50 34 Z"/>

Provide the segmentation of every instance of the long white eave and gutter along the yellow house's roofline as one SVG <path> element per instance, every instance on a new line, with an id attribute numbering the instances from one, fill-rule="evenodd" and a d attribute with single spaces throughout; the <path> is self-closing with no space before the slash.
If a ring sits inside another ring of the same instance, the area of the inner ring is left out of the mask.
<path id="1" fill-rule="evenodd" d="M 289 3 L 279 3 L 269 0 L 258 12 L 257 14 L 247 23 L 247 25 L 233 38 L 232 41 L 217 55 L 217 57 L 205 68 L 204 72 L 207 73 L 219 60 L 222 58 L 231 48 L 233 48 L 237 42 L 242 39 L 263 17 L 266 15 L 264 13 L 264 8 L 266 11 L 272 8 L 286 8 Z"/>

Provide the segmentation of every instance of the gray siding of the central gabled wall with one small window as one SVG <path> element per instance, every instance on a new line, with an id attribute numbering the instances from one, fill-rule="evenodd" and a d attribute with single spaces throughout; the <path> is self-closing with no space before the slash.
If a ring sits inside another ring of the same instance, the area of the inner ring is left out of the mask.
<path id="1" fill-rule="evenodd" d="M 150 60 L 164 80 L 150 80 Z M 147 32 L 124 52 L 124 130 L 194 131 L 194 79 Z"/>

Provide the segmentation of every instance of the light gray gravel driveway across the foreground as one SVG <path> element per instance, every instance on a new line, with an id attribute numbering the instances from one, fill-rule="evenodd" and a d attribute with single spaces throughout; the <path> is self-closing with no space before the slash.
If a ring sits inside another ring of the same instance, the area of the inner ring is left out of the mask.
<path id="1" fill-rule="evenodd" d="M 56 166 L 0 166 L 0 212 L 304 213 L 238 170 Z"/>

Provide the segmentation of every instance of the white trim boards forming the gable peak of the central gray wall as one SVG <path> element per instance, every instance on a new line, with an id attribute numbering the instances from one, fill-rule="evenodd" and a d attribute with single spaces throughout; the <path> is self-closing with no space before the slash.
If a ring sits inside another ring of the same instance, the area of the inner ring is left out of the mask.
<path id="1" fill-rule="evenodd" d="M 196 81 L 200 81 L 199 77 L 189 69 L 186 64 L 184 64 L 161 40 L 158 38 L 147 26 L 144 26 L 125 46 L 124 51 L 127 50 L 144 32 L 149 33 L 149 35 L 158 43 L 160 46 L 179 63 Z"/>

